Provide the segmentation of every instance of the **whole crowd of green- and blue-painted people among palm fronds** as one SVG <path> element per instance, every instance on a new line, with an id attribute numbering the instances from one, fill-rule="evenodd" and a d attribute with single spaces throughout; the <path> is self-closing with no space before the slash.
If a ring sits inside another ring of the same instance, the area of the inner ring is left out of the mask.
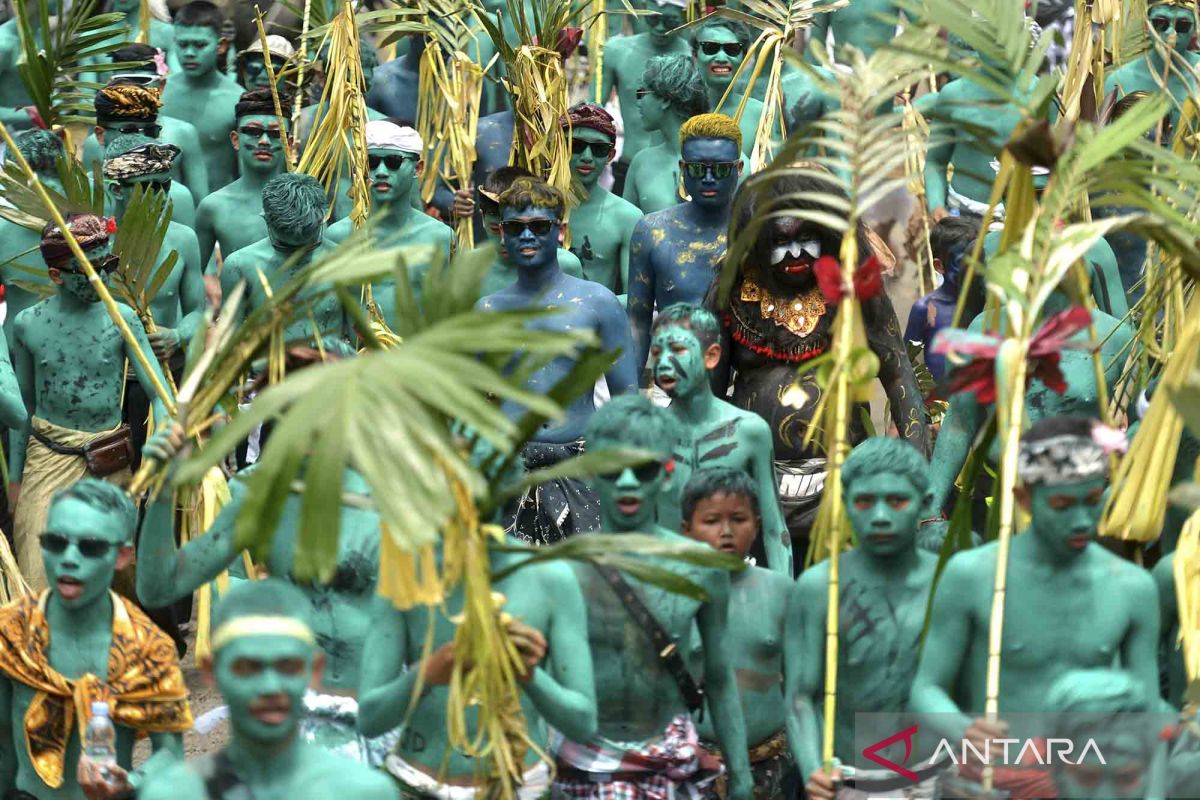
<path id="1" fill-rule="evenodd" d="M 60 11 L 56 0 L 30 5 Z M 304 492 L 264 499 L 247 488 L 270 426 L 226 464 L 230 497 L 191 537 L 180 536 L 172 492 L 126 491 L 139 465 L 170 476 L 187 459 L 188 437 L 161 387 L 185 383 L 190 343 L 222 300 L 241 294 L 226 308 L 248 319 L 302 270 L 356 241 L 354 193 L 331 191 L 293 160 L 331 112 L 319 92 L 294 85 L 289 67 L 310 59 L 328 76 L 330 50 L 301 47 L 296 31 L 277 25 L 235 52 L 238 10 L 210 0 L 170 12 L 151 4 L 157 16 L 139 31 L 143 4 L 109 0 L 107 11 L 126 14 L 108 34 L 119 46 L 103 55 L 119 66 L 80 74 L 100 86 L 95 125 L 72 137 L 38 124 L 23 83 L 18 23 L 40 20 L 0 25 L 0 122 L 18 151 L 8 162 L 28 164 L 64 197 L 78 162 L 102 196 L 102 209 L 88 211 L 72 200 L 78 207 L 62 224 L 0 215 L 12 551 L 0 558 L 12 594 L 0 607 L 0 798 L 1200 796 L 1189 758 L 1195 676 L 1177 646 L 1188 625 L 1176 600 L 1187 571 L 1172 553 L 1181 525 L 1136 553 L 1097 533 L 1110 467 L 1126 447 L 1124 432 L 1102 420 L 1118 419 L 1114 403 L 1130 423 L 1144 410 L 1145 398 L 1115 387 L 1135 342 L 1129 315 L 1145 290 L 1145 241 L 1099 237 L 1080 254 L 1092 297 L 1052 288 L 1043 313 L 1081 318 L 1056 372 L 1028 383 L 1012 493 L 1021 529 L 994 541 L 990 488 L 964 487 L 959 476 L 990 441 L 996 395 L 953 393 L 935 423 L 922 377 L 944 381 L 961 366 L 938 347 L 943 331 L 991 330 L 978 267 L 1001 247 L 995 164 L 1021 114 L 968 78 L 913 100 L 962 134 L 924 154 L 916 213 L 937 277 L 901 320 L 890 295 L 913 266 L 860 216 L 845 224 L 851 199 L 836 176 L 751 169 L 764 151 L 758 138 L 774 130 L 758 124 L 773 101 L 767 77 L 749 80 L 744 68 L 757 32 L 736 11 L 685 25 L 692 5 L 611 10 L 612 35 L 582 61 L 592 65 L 587 95 L 601 102 L 571 103 L 559 120 L 569 192 L 516 163 L 514 139 L 527 132 L 512 85 L 499 80 L 505 65 L 482 36 L 468 54 L 492 71 L 472 186 L 425 181 L 439 168 L 418 121 L 426 44 L 361 40 L 367 119 L 348 138 L 365 150 L 365 224 L 372 246 L 406 248 L 409 284 L 396 284 L 404 276 L 368 284 L 366 311 L 383 329 L 403 330 L 412 306 L 402 299 L 420 303 L 430 271 L 464 254 L 455 227 L 467 221 L 490 261 L 476 311 L 538 309 L 532 327 L 588 335 L 607 354 L 594 391 L 545 420 L 518 467 L 648 453 L 515 495 L 496 519 L 508 541 L 644 534 L 727 557 L 718 566 L 710 554 L 635 554 L 622 564 L 642 566 L 625 569 L 527 565 L 529 549 L 490 551 L 526 745 L 503 776 L 461 748 L 448 711 L 472 668 L 456 648 L 464 589 L 437 607 L 398 608 L 380 594 L 384 518 L 361 500 L 371 488 L 353 464 L 330 512 L 340 517 L 336 567 L 317 581 L 296 569 L 300 519 L 311 512 Z M 888 48 L 907 5 L 850 0 L 814 17 L 804 52 L 815 66 L 787 64 L 779 76 L 787 130 L 836 109 L 816 78 L 848 71 L 844 53 Z M 1148 50 L 1108 73 L 1117 114 L 1156 94 L 1182 106 L 1196 89 L 1180 67 L 1198 59 L 1195 0 L 1147 5 L 1136 23 Z M 508 10 L 478 8 L 498 12 Z M 1048 19 L 1069 32 L 1060 12 Z M 1066 58 L 1060 47 L 1055 59 Z M 1037 76 L 1021 80 L 1031 83 L 1014 92 L 1034 91 Z M 1176 110 L 1162 116 L 1163 130 L 1180 124 Z M 148 198 L 168 209 L 152 296 L 140 311 L 113 306 L 97 283 L 113 284 L 126 221 Z M 905 213 L 911 199 L 896 199 Z M 830 391 L 828 373 L 814 367 L 839 335 L 847 242 L 862 261 L 850 288 L 858 347 L 877 365 L 872 387 L 888 419 L 876 432 L 869 410 L 856 410 L 853 449 L 833 463 L 812 435 Z M 358 357 L 366 318 L 334 293 L 287 318 L 289 374 Z M 538 363 L 523 387 L 556 397 L 583 357 L 578 349 Z M 528 409 L 505 399 L 503 410 L 521 420 Z M 986 451 L 980 458 L 997 462 Z M 328 474 L 314 459 L 304 456 L 312 469 L 301 465 L 301 475 Z M 853 535 L 835 560 L 814 543 L 827 477 L 838 481 Z M 264 503 L 277 522 L 252 563 L 238 519 Z M 971 541 L 948 539 L 952 527 Z M 434 549 L 440 564 L 442 545 Z M 697 591 L 668 589 L 652 571 Z M 997 573 L 1007 578 L 1000 595 Z M 181 660 L 194 646 L 192 600 L 211 587 L 218 600 L 204 612 L 199 666 L 228 709 L 229 735 L 217 752 L 185 758 L 194 721 Z M 91 727 L 106 711 L 115 726 L 108 751 Z M 1056 735 L 1081 750 L 1091 742 L 1091 754 L 1055 760 L 1046 741 Z M 134 759 L 145 738 L 151 753 Z M 956 759 L 937 747 L 947 741 L 952 753 L 961 744 L 977 756 L 989 742 L 1020 742 L 1021 758 Z"/>

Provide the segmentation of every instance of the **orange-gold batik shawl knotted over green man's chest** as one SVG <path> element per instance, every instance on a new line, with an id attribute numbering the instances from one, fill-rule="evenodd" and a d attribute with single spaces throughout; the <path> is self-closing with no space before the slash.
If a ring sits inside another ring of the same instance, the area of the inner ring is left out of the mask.
<path id="1" fill-rule="evenodd" d="M 76 724 L 82 739 L 94 702 L 107 703 L 113 722 L 133 728 L 139 736 L 191 730 L 187 687 L 169 636 L 132 602 L 110 593 L 108 680 L 90 673 L 68 680 L 50 667 L 49 594 L 0 608 L 0 673 L 34 690 L 25 710 L 25 751 L 46 786 L 62 786 L 71 726 Z"/>

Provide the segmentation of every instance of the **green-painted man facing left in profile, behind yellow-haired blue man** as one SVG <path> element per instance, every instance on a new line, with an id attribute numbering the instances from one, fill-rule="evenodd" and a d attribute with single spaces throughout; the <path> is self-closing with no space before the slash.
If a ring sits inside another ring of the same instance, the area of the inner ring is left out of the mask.
<path id="1" fill-rule="evenodd" d="M 684 193 L 680 184 L 683 173 L 678 167 L 683 161 L 680 131 L 684 122 L 709 109 L 700 67 L 686 55 L 652 59 L 646 65 L 642 85 L 637 90 L 637 108 L 641 112 L 637 121 L 660 138 L 630 156 L 622 197 L 643 213 L 654 213 L 674 207 Z M 625 118 L 625 136 L 637 121 Z M 738 131 L 739 150 L 740 138 L 742 132 Z"/>

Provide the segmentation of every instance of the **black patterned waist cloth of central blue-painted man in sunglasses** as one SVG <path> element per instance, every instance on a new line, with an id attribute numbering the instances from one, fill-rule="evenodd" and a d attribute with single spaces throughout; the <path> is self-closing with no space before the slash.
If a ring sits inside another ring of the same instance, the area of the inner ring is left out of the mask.
<path id="1" fill-rule="evenodd" d="M 527 473 L 546 469 L 583 452 L 583 440 L 530 441 L 521 450 Z M 587 482 L 565 477 L 526 489 L 508 509 L 505 533 L 530 545 L 553 545 L 600 530 L 600 498 Z"/>

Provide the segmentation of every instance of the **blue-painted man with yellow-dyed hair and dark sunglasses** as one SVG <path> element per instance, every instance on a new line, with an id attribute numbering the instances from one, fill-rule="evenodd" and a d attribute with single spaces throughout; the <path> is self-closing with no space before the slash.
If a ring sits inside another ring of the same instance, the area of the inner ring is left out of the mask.
<path id="1" fill-rule="evenodd" d="M 742 131 L 725 114 L 688 120 L 679 145 L 676 163 L 690 199 L 646 216 L 630 245 L 629 321 L 638 367 L 650 349 L 654 309 L 701 302 L 716 277 L 744 163 Z"/>

